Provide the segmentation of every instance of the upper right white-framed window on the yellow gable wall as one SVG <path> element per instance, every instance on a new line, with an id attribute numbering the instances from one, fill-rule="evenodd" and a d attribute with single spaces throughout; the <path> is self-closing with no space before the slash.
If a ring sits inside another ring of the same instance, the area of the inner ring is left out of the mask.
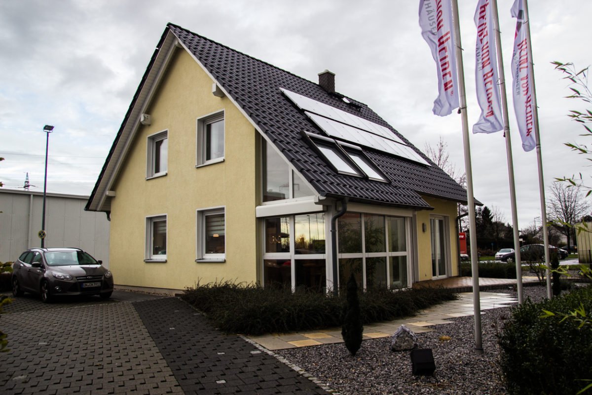
<path id="1" fill-rule="evenodd" d="M 224 160 L 224 111 L 197 120 L 196 166 Z"/>

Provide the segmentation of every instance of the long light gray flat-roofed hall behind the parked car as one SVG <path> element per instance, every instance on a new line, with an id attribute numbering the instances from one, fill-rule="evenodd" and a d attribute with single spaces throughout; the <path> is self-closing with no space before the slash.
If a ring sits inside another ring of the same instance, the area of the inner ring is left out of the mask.
<path id="1" fill-rule="evenodd" d="M 109 226 L 102 213 L 84 211 L 88 196 L 46 194 L 47 247 L 82 248 L 109 267 Z M 39 247 L 43 192 L 0 188 L 0 262 Z"/>

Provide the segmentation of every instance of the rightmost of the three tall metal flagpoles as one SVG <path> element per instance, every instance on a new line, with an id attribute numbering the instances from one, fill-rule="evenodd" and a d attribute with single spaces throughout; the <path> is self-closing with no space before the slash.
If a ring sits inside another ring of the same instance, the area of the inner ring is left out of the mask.
<path id="1" fill-rule="evenodd" d="M 549 269 L 549 232 L 547 229 L 547 209 L 545 205 L 545 182 L 543 182 L 543 159 L 540 152 L 540 134 L 539 134 L 539 111 L 536 105 L 536 89 L 535 89 L 535 69 L 532 62 L 532 41 L 530 40 L 530 17 L 528 14 L 528 2 L 524 0 L 524 25 L 526 27 L 526 39 L 528 42 L 528 69 L 532 76 L 532 110 L 533 121 L 535 129 L 536 141 L 536 159 L 539 168 L 539 191 L 540 191 L 540 215 L 543 223 L 543 244 L 545 245 L 545 275 L 547 280 L 547 298 L 551 299 L 551 269 Z"/>

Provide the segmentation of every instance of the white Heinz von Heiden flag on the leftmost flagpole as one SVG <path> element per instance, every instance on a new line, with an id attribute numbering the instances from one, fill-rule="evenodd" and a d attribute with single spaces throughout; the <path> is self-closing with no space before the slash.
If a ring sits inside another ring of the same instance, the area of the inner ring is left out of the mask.
<path id="1" fill-rule="evenodd" d="M 450 0 L 420 0 L 419 25 L 432 50 L 438 74 L 438 97 L 433 113 L 441 117 L 459 107 L 456 46 Z"/>

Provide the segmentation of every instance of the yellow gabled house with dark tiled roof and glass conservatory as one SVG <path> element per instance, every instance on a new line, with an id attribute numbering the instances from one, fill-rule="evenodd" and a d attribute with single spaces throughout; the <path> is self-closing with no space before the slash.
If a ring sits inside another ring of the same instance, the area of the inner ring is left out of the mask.
<path id="1" fill-rule="evenodd" d="M 318 78 L 167 25 L 86 205 L 110 217 L 117 284 L 458 275 L 465 190 L 333 73 Z"/>

